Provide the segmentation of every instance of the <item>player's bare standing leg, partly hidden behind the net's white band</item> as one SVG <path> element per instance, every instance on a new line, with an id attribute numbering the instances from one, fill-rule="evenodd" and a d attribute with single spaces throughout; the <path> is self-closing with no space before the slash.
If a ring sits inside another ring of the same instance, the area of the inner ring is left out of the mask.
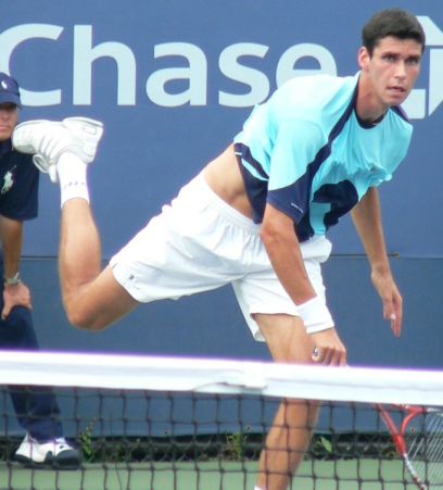
<path id="1" fill-rule="evenodd" d="M 314 343 L 303 323 L 289 315 L 255 315 L 274 361 L 311 363 Z M 319 403 L 283 400 L 275 416 L 260 458 L 257 487 L 287 490 L 311 441 Z"/>

